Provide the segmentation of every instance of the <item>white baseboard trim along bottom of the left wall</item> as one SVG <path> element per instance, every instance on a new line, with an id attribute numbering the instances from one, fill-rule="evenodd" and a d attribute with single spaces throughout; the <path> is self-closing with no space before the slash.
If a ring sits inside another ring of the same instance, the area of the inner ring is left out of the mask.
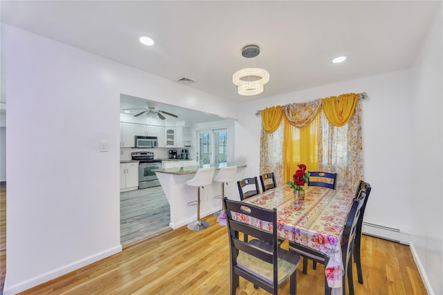
<path id="1" fill-rule="evenodd" d="M 116 247 L 107 249 L 100 253 L 83 258 L 82 260 L 70 263 L 69 265 L 64 265 L 62 267 L 59 267 L 58 269 L 53 269 L 50 272 L 46 272 L 45 274 L 41 274 L 39 276 L 35 276 L 34 278 L 24 280 L 23 282 L 17 283 L 12 286 L 8 286 L 8 273 L 6 273 L 5 285 L 3 287 L 3 294 L 13 295 L 19 292 L 23 292 L 27 289 L 30 289 L 42 283 L 46 283 L 48 280 L 53 280 L 54 278 L 58 278 L 59 276 L 63 276 L 64 274 L 68 274 L 69 272 L 73 272 L 76 269 L 79 269 L 86 265 L 90 265 L 91 263 L 95 263 L 98 260 L 102 260 L 103 258 L 117 254 L 121 251 L 122 251 L 122 246 L 118 245 Z"/>

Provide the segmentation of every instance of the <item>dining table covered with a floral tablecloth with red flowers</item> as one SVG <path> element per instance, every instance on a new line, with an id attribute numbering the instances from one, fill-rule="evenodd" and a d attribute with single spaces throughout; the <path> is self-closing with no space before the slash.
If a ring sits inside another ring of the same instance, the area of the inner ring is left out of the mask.
<path id="1" fill-rule="evenodd" d="M 354 193 L 325 187 L 305 187 L 304 200 L 298 198 L 289 185 L 269 189 L 242 202 L 265 209 L 277 209 L 278 237 L 319 251 L 329 258 L 325 277 L 333 294 L 341 294 L 344 268 L 341 239 Z M 272 230 L 264 222 L 233 213 L 233 219 L 261 229 Z"/>

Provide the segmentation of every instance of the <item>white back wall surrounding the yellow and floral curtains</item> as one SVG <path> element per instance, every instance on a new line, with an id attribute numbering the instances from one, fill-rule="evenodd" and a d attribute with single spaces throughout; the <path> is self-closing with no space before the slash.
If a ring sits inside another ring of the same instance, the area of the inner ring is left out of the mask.
<path id="1" fill-rule="evenodd" d="M 363 109 L 363 176 L 372 185 L 365 222 L 410 231 L 410 72 L 401 70 L 325 85 L 257 101 L 257 108 L 309 102 L 343 93 L 368 93 Z M 242 106 L 248 108 L 247 104 Z M 240 107 L 240 108 L 242 108 Z M 237 147 L 244 149 L 246 175 L 259 173 L 260 116 L 255 108 L 237 120 Z M 248 152 L 246 152 L 248 151 Z"/>

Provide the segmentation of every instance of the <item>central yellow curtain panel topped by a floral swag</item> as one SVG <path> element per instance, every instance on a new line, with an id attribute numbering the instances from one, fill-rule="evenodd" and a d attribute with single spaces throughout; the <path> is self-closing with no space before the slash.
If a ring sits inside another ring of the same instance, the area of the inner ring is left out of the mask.
<path id="1" fill-rule="evenodd" d="M 284 182 L 292 179 L 298 164 L 318 170 L 320 99 L 284 106 Z"/>

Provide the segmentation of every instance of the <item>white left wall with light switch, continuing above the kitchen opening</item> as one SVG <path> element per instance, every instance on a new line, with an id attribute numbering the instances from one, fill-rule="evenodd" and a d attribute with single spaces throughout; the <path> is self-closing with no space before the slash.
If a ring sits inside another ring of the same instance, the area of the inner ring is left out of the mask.
<path id="1" fill-rule="evenodd" d="M 236 108 L 11 26 L 2 38 L 8 69 L 4 294 L 15 294 L 120 251 L 120 93 L 163 97 L 224 117 L 236 117 Z M 101 140 L 109 152 L 100 153 Z"/>

